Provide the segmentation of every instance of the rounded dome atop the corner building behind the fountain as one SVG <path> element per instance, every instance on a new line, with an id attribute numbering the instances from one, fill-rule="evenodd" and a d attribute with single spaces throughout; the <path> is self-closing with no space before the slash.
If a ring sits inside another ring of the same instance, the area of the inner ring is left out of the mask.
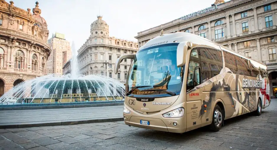
<path id="1" fill-rule="evenodd" d="M 102 16 L 97 16 L 97 20 L 90 25 L 91 36 L 109 36 L 109 25 L 102 20 Z"/>

